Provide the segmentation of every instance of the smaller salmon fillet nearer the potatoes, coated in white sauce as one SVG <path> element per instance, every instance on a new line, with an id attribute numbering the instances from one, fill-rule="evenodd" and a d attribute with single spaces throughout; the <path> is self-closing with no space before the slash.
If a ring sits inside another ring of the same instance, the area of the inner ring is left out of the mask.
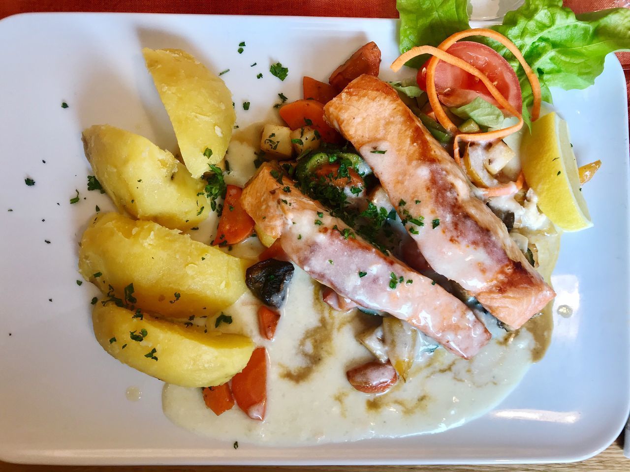
<path id="1" fill-rule="evenodd" d="M 490 339 L 464 303 L 355 235 L 269 164 L 249 181 L 241 203 L 291 261 L 342 297 L 405 320 L 466 359 Z"/>

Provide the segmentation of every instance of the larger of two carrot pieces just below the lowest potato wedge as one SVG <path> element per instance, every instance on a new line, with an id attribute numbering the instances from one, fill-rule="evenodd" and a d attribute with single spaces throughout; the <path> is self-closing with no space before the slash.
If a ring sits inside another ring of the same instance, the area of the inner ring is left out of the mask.
<path id="1" fill-rule="evenodd" d="M 232 377 L 232 394 L 241 410 L 253 420 L 265 419 L 267 352 L 256 347 L 245 368 Z"/>

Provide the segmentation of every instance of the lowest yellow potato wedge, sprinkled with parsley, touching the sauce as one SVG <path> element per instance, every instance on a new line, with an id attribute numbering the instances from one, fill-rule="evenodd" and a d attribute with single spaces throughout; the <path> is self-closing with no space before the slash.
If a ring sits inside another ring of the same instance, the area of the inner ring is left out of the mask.
<path id="1" fill-rule="evenodd" d="M 226 383 L 247 365 L 254 343 L 246 336 L 203 332 L 107 303 L 92 312 L 98 344 L 118 361 L 168 383 L 207 387 Z"/>

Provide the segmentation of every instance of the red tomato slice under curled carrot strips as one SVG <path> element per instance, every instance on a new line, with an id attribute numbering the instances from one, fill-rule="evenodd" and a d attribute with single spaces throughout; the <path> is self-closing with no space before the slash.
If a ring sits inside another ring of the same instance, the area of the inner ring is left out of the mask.
<path id="1" fill-rule="evenodd" d="M 518 77 L 512 66 L 498 52 L 491 47 L 472 41 L 457 42 L 447 52 L 464 59 L 486 74 L 518 113 L 522 113 L 523 99 L 520 94 Z M 427 67 L 428 61 L 420 67 L 416 77 L 418 86 L 424 91 L 427 90 Z M 440 102 L 445 106 L 462 106 L 471 103 L 477 97 L 498 106 L 483 82 L 472 74 L 444 61 L 438 62 L 435 68 L 435 89 Z"/>

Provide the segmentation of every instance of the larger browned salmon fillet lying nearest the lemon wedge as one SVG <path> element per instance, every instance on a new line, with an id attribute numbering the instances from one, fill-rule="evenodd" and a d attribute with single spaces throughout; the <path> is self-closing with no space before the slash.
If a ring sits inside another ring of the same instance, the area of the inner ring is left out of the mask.
<path id="1" fill-rule="evenodd" d="M 392 87 L 360 76 L 324 113 L 372 167 L 437 273 L 513 329 L 554 298 L 505 225 L 474 196 L 462 169 Z"/>

